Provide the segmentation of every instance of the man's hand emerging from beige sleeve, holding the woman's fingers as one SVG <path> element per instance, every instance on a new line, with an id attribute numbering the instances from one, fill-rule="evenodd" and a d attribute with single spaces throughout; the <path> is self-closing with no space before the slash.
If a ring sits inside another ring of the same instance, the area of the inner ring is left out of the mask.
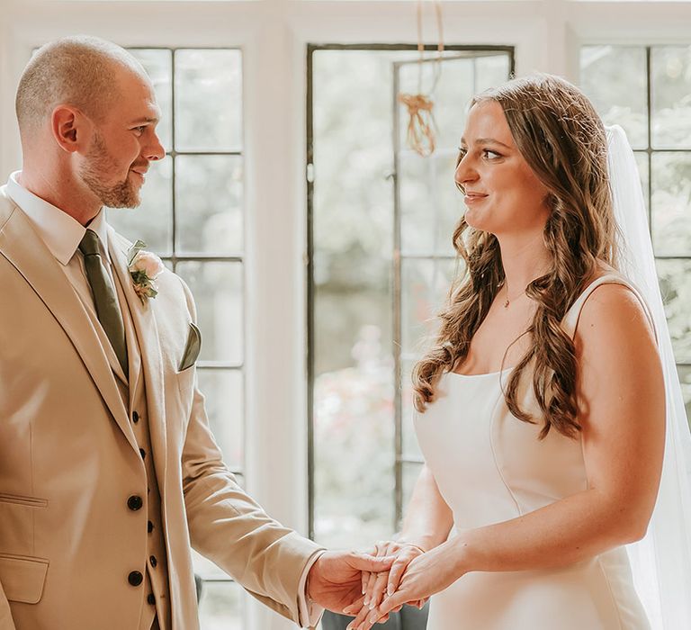
<path id="1" fill-rule="evenodd" d="M 319 606 L 342 613 L 363 600 L 362 572 L 389 571 L 395 556 L 375 558 L 357 552 L 325 552 L 312 564 L 307 577 L 307 595 Z"/>

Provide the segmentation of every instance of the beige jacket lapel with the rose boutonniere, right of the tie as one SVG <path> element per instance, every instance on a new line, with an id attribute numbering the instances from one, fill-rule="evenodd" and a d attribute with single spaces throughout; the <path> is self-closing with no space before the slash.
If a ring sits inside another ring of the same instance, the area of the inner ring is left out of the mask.
<path id="1" fill-rule="evenodd" d="M 147 389 L 148 430 L 154 448 L 154 467 L 161 497 L 166 486 L 166 401 L 164 397 L 163 360 L 153 305 L 142 303 L 127 266 L 128 242 L 108 226 L 108 247 L 112 268 L 120 280 L 122 293 L 130 307 L 132 324 L 139 340 L 141 372 Z M 131 378 L 131 375 L 130 375 Z M 131 382 L 136 385 L 135 381 Z M 162 501 L 165 504 L 165 501 Z"/>

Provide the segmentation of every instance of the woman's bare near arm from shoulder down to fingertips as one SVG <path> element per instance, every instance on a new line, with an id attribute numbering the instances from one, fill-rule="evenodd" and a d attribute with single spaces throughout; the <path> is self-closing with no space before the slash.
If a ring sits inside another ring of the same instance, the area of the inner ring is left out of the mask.
<path id="1" fill-rule="evenodd" d="M 644 536 L 665 440 L 664 383 L 651 326 L 633 293 L 604 284 L 583 307 L 575 342 L 587 488 L 519 518 L 462 531 L 417 557 L 372 617 L 443 590 L 466 572 L 577 563 Z"/>

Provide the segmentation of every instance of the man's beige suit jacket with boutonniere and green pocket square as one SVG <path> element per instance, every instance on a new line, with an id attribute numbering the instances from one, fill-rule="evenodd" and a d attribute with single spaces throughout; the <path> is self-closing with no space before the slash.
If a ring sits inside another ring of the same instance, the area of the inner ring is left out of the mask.
<path id="1" fill-rule="evenodd" d="M 177 367 L 195 320 L 166 270 L 155 300 L 132 289 L 130 243 L 110 254 L 139 338 L 161 491 L 174 630 L 198 628 L 190 547 L 286 617 L 319 546 L 269 518 L 221 461 L 195 388 Z M 31 222 L 0 188 L 0 630 L 136 628 L 147 480 L 89 317 Z"/>

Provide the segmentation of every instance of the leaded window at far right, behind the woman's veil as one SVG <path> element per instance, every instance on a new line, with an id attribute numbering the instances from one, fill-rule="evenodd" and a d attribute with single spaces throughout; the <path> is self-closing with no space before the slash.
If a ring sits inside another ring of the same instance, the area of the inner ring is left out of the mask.
<path id="1" fill-rule="evenodd" d="M 691 418 L 691 45 L 584 46 L 580 72 L 605 123 L 624 127 L 634 149 Z"/>

